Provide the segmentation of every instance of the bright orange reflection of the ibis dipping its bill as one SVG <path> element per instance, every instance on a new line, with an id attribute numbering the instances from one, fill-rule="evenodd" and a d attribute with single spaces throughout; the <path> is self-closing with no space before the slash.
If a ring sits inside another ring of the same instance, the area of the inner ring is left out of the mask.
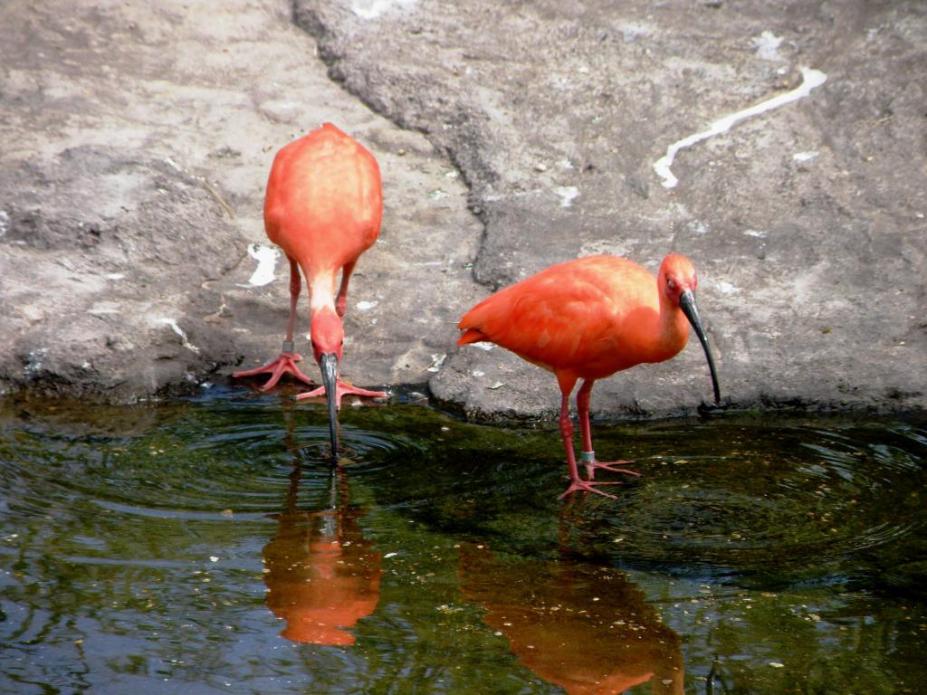
<path id="1" fill-rule="evenodd" d="M 288 414 L 288 412 L 287 412 Z M 292 423 L 287 418 L 292 446 Z M 348 475 L 342 465 L 331 474 L 328 509 L 300 512 L 301 470 L 293 461 L 286 512 L 264 546 L 266 602 L 286 621 L 281 635 L 295 642 L 350 645 L 349 628 L 374 613 L 380 599 L 381 554 L 363 537 L 364 510 L 349 506 Z"/>

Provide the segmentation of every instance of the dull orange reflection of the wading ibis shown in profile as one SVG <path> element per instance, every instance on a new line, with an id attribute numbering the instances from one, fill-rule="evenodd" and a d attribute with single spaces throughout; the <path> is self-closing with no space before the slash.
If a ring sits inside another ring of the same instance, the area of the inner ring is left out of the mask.
<path id="1" fill-rule="evenodd" d="M 614 695 L 651 682 L 681 695 L 679 636 L 617 570 L 572 562 L 502 562 L 461 549 L 461 588 L 520 663 L 570 695 Z"/>

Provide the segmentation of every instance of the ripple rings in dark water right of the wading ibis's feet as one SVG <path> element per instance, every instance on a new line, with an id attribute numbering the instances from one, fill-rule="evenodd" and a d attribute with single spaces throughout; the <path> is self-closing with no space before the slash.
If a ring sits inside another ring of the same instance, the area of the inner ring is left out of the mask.
<path id="1" fill-rule="evenodd" d="M 741 425 L 714 434 L 714 455 L 679 432 L 666 442 L 677 456 L 639 459 L 644 478 L 616 504 L 586 500 L 571 513 L 575 541 L 679 574 L 832 581 L 852 574 L 861 551 L 925 527 L 916 438 L 886 447 L 855 429 Z"/>

